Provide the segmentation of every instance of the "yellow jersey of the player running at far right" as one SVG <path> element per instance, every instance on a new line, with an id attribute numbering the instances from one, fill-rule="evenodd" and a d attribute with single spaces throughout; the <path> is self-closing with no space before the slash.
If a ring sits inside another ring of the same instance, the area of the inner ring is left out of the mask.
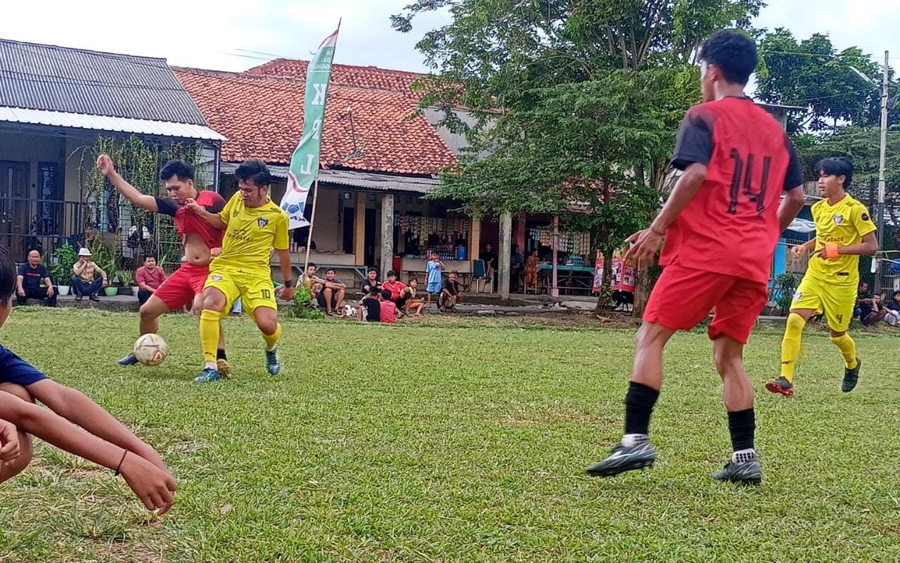
<path id="1" fill-rule="evenodd" d="M 829 204 L 828 200 L 816 201 L 812 211 L 816 253 L 826 243 L 837 246 L 858 245 L 862 237 L 876 230 L 869 210 L 850 194 L 834 205 Z M 814 253 L 809 259 L 806 273 L 836 285 L 856 285 L 860 281 L 860 256 L 839 255 L 825 260 Z"/>

